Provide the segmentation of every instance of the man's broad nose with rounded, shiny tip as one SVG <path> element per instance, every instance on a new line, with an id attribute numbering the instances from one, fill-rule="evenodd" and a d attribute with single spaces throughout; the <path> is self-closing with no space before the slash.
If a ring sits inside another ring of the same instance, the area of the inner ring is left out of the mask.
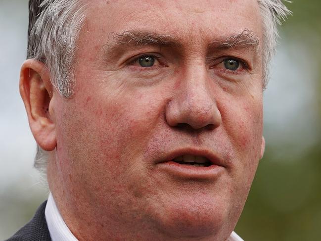
<path id="1" fill-rule="evenodd" d="M 166 121 L 170 126 L 189 126 L 194 130 L 217 128 L 222 117 L 213 92 L 213 80 L 204 68 L 185 72 L 166 106 Z"/>

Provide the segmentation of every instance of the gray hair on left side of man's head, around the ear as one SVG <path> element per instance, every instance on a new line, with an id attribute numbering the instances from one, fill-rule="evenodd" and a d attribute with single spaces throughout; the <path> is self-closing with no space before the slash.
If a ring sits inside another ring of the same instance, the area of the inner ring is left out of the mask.
<path id="1" fill-rule="evenodd" d="M 73 93 L 76 42 L 86 17 L 81 0 L 29 0 L 27 58 L 46 64 L 64 97 Z M 48 152 L 37 145 L 34 166 L 46 175 Z"/>

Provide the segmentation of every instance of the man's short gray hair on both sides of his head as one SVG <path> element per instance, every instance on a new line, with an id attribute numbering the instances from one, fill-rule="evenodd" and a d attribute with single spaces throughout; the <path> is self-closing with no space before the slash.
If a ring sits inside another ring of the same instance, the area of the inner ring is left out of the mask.
<path id="1" fill-rule="evenodd" d="M 259 3 L 263 42 L 264 88 L 268 82 L 269 63 L 275 54 L 277 25 L 291 12 L 282 0 L 257 0 Z M 287 1 L 287 0 L 284 0 Z M 73 94 L 76 42 L 86 17 L 82 0 L 30 0 L 28 56 L 46 64 L 50 81 L 64 97 Z M 37 146 L 35 167 L 46 175 L 48 152 Z"/>

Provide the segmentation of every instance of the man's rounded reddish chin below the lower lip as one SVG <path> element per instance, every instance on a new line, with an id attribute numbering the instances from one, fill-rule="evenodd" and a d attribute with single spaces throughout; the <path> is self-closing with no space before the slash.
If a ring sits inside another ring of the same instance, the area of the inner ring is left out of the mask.
<path id="1" fill-rule="evenodd" d="M 232 232 L 229 208 L 223 203 L 184 200 L 181 205 L 169 206 L 161 217 L 160 228 L 174 239 L 182 240 L 224 240 Z M 236 218 L 237 220 L 237 218 Z"/>

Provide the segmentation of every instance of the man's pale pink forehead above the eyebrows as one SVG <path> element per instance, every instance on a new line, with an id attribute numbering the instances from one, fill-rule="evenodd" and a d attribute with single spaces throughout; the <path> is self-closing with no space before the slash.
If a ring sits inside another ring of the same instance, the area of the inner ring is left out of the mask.
<path id="1" fill-rule="evenodd" d="M 257 0 L 95 0 L 88 6 L 85 31 L 91 38 L 129 30 L 174 34 L 187 43 L 245 29 L 259 40 L 262 35 Z"/>

